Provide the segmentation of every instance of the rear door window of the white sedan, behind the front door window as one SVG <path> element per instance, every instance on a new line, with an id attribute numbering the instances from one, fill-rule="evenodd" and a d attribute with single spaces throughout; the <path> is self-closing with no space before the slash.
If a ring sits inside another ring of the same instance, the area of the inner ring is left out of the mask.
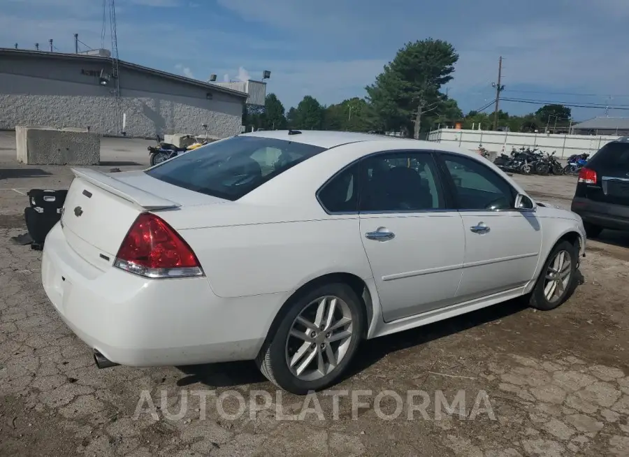
<path id="1" fill-rule="evenodd" d="M 444 208 L 433 157 L 428 152 L 391 152 L 362 162 L 360 210 L 429 211 Z"/>

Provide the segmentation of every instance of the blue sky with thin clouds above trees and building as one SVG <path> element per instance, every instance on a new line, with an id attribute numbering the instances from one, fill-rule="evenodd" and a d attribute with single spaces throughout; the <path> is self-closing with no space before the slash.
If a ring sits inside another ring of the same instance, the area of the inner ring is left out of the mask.
<path id="1" fill-rule="evenodd" d="M 0 46 L 101 46 L 101 0 L 0 0 Z M 364 96 L 407 41 L 440 38 L 460 55 L 449 95 L 464 111 L 503 96 L 629 107 L 628 0 L 116 0 L 120 58 L 205 80 L 272 72 L 287 109 Z M 106 48 L 110 48 L 107 27 Z M 509 113 L 540 105 L 505 101 Z M 624 108 L 624 107 L 623 107 Z M 491 108 L 489 108 L 491 109 Z M 573 108 L 576 119 L 605 110 Z M 629 117 L 629 110 L 609 110 Z"/>

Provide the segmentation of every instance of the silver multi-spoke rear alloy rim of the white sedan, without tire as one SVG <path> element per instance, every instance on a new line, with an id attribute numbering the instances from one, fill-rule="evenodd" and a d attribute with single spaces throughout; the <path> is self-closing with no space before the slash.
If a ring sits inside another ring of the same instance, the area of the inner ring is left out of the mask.
<path id="1" fill-rule="evenodd" d="M 312 300 L 293 321 L 286 342 L 286 363 L 303 381 L 329 375 L 347 354 L 354 338 L 352 312 L 336 296 Z"/>

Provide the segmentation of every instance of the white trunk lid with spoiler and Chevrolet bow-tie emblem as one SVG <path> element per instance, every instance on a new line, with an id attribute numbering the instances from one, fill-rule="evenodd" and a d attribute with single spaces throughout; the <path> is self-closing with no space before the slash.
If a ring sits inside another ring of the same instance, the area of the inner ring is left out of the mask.
<path id="1" fill-rule="evenodd" d="M 161 182 L 143 171 L 106 174 L 75 168 L 73 173 L 75 178 L 64 203 L 62 230 L 68 245 L 101 270 L 111 266 L 141 212 L 220 201 Z"/>

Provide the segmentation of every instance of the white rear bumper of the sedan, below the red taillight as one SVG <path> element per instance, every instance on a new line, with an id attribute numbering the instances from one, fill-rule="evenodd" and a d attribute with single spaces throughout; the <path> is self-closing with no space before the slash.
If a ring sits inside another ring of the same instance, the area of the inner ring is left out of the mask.
<path id="1" fill-rule="evenodd" d="M 147 280 L 99 270 L 66 242 L 46 238 L 43 288 L 89 347 L 120 365 L 191 365 L 255 358 L 284 297 L 219 298 L 205 277 Z"/>

